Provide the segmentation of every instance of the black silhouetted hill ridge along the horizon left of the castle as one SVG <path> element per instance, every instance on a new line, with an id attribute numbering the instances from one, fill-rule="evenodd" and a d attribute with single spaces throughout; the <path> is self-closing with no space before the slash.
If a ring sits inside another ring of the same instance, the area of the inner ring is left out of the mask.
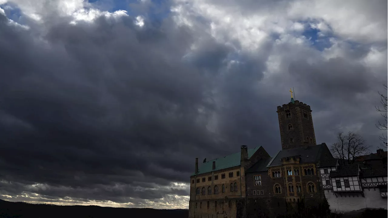
<path id="1" fill-rule="evenodd" d="M 187 209 L 108 208 L 100 206 L 59 206 L 0 200 L 0 218 L 107 218 L 168 217 L 187 218 Z"/>

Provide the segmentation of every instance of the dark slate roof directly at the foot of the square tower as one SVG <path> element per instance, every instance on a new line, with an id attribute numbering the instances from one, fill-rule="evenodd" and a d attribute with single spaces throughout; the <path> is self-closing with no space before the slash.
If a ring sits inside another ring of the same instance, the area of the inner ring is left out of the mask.
<path id="1" fill-rule="evenodd" d="M 322 143 L 319 145 L 310 145 L 307 148 L 300 147 L 294 149 L 281 150 L 279 153 L 272 158 L 268 166 L 279 166 L 282 164 L 281 159 L 284 157 L 299 156 L 300 163 L 312 163 L 317 162 L 320 159 L 324 146 Z"/>

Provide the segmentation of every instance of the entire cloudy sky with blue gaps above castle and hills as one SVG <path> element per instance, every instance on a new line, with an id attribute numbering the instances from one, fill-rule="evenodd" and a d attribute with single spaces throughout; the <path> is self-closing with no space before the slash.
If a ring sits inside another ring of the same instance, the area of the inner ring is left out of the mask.
<path id="1" fill-rule="evenodd" d="M 375 152 L 387 0 L 0 0 L 0 198 L 188 208 L 195 158 L 317 143 Z"/>

